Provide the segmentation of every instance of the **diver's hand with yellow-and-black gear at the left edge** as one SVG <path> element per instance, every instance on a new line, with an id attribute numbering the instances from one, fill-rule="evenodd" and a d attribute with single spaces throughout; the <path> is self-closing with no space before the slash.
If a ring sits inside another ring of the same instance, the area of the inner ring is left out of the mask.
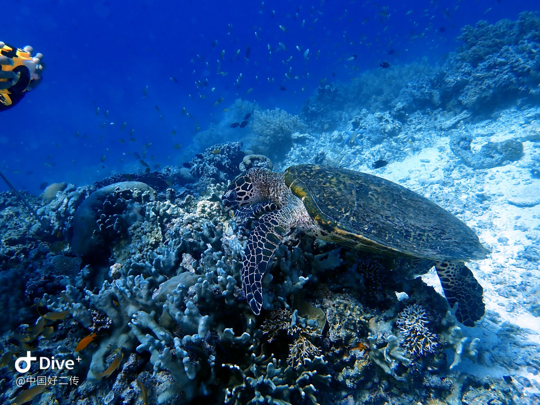
<path id="1" fill-rule="evenodd" d="M 41 82 L 43 54 L 32 56 L 33 48 L 15 48 L 0 41 L 0 111 L 15 106 L 25 93 Z"/>

